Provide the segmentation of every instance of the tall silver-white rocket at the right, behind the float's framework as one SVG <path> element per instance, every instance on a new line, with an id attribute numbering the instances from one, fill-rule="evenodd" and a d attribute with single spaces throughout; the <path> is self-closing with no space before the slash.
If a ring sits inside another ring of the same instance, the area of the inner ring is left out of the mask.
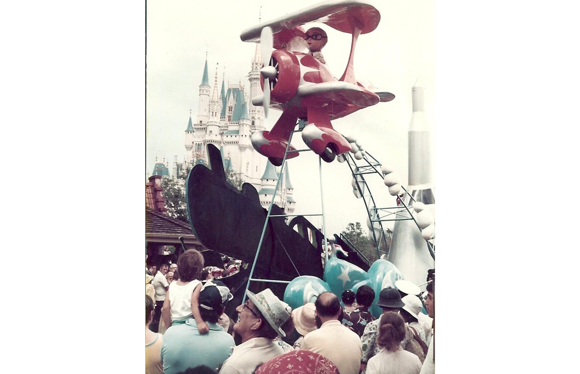
<path id="1" fill-rule="evenodd" d="M 429 208 L 434 214 L 435 197 L 431 180 L 431 132 L 425 120 L 424 92 L 425 88 L 417 79 L 412 88 L 413 113 L 408 133 L 409 183 L 407 190 L 415 201 L 424 203 L 426 208 Z M 405 196 L 403 199 L 407 206 L 413 204 L 410 197 Z M 401 208 L 403 208 L 402 205 Z M 406 211 L 399 214 L 408 216 Z M 405 280 L 414 284 L 425 283 L 427 270 L 435 267 L 435 261 L 429 253 L 427 242 L 413 220 L 395 222 L 387 260 L 397 266 Z"/>

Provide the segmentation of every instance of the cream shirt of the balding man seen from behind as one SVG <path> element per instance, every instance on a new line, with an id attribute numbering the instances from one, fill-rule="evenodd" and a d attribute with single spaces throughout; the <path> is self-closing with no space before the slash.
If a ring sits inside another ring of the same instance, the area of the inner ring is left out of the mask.
<path id="1" fill-rule="evenodd" d="M 304 337 L 302 349 L 323 355 L 331 360 L 340 374 L 358 374 L 362 346 L 357 333 L 340 321 L 326 321 Z"/>

